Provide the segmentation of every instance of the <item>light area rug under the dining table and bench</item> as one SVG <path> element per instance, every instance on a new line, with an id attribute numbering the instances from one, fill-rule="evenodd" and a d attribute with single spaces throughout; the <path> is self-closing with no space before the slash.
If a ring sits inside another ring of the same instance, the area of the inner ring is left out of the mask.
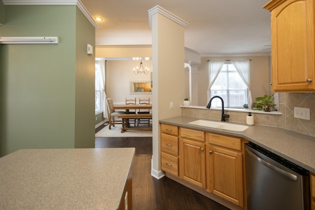
<path id="1" fill-rule="evenodd" d="M 152 125 L 150 125 L 152 127 Z M 95 137 L 152 137 L 152 130 L 125 130 L 121 133 L 122 125 L 112 126 L 108 129 L 106 125 L 103 129 L 95 133 Z"/>

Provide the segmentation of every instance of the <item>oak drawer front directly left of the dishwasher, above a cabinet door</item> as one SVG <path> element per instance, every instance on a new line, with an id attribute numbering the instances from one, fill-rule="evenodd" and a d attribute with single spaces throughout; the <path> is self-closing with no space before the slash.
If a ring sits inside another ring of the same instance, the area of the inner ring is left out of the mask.
<path id="1" fill-rule="evenodd" d="M 232 150 L 241 151 L 241 139 L 208 133 L 208 143 Z"/>

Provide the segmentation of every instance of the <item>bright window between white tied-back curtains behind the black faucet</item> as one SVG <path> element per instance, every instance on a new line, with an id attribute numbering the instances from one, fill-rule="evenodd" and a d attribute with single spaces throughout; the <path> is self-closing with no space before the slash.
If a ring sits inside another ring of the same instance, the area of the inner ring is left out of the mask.
<path id="1" fill-rule="evenodd" d="M 236 71 L 234 65 L 225 62 L 218 77 L 210 89 L 210 97 L 221 96 L 224 107 L 241 107 L 247 102 L 247 86 Z M 221 107 L 221 100 L 214 99 L 212 107 Z"/>

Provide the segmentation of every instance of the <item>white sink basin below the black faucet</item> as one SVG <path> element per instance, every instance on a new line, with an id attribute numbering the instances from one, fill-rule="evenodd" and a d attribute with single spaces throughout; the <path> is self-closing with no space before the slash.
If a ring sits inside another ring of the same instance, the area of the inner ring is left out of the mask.
<path id="1" fill-rule="evenodd" d="M 248 126 L 246 125 L 238 125 L 238 124 L 225 123 L 225 122 L 215 122 L 215 121 L 209 121 L 209 120 L 194 120 L 194 121 L 189 122 L 189 124 L 220 128 L 220 129 L 225 129 L 225 130 L 233 130 L 233 131 L 244 131 L 248 128 Z"/>

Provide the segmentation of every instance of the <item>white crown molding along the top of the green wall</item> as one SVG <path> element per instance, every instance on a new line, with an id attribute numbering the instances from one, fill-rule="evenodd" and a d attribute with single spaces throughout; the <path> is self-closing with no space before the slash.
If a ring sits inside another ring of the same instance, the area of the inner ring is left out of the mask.
<path id="1" fill-rule="evenodd" d="M 4 5 L 76 5 L 95 29 L 99 28 L 81 0 L 2 0 Z"/>

